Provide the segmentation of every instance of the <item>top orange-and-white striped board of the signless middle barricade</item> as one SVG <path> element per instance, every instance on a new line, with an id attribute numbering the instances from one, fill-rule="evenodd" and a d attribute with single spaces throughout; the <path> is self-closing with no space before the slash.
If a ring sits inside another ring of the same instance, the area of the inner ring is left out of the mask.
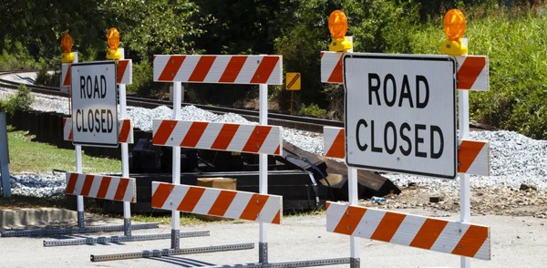
<path id="1" fill-rule="evenodd" d="M 281 56 L 155 55 L 154 81 L 283 85 Z"/>

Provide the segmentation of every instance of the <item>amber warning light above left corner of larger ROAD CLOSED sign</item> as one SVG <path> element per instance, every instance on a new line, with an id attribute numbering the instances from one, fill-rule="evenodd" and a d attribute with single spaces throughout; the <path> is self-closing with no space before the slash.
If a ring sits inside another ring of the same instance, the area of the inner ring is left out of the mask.
<path id="1" fill-rule="evenodd" d="M 346 52 L 353 48 L 353 44 L 346 37 L 347 17 L 341 10 L 335 10 L 328 16 L 328 30 L 333 41 L 328 46 L 329 51 Z"/>

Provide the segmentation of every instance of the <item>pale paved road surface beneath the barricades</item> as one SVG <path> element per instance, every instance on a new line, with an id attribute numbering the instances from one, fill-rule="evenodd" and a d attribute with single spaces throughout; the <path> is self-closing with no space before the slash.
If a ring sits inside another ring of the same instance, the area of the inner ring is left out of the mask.
<path id="1" fill-rule="evenodd" d="M 407 211 L 409 212 L 409 211 Z M 439 216 L 423 210 L 411 211 Z M 442 212 L 446 215 L 445 212 Z M 458 215 L 451 214 L 452 219 Z M 472 216 L 473 223 L 490 226 L 492 260 L 472 260 L 471 267 L 546 267 L 547 220 L 530 217 Z M 119 222 L 117 222 L 119 223 Z M 170 240 L 44 247 L 44 238 L 0 237 L 0 267 L 196 267 L 258 262 L 258 224 L 253 222 L 181 226 L 181 231 L 209 230 L 211 236 L 181 239 L 181 248 L 255 242 L 252 250 L 201 253 L 156 259 L 91 263 L 90 254 L 135 253 L 170 247 Z M 170 233 L 170 226 L 140 233 Z M 114 233 L 120 235 L 121 233 Z M 96 234 L 112 235 L 112 233 Z M 50 238 L 46 238 L 50 239 Z M 268 226 L 271 263 L 349 257 L 349 239 L 325 232 L 325 216 L 284 218 Z M 361 267 L 459 267 L 459 256 L 360 239 Z M 336 267 L 347 267 L 337 265 Z M 335 266 L 331 266 L 335 267 Z"/>

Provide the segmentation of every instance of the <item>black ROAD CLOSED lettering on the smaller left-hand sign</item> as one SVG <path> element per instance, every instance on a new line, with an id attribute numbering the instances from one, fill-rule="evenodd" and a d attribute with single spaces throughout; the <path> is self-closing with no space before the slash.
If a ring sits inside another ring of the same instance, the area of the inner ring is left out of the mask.
<path id="1" fill-rule="evenodd" d="M 107 80 L 105 76 L 79 77 L 80 99 L 104 99 L 107 97 Z M 106 108 L 77 108 L 76 130 L 78 132 L 111 133 L 114 130 L 112 110 Z"/>

